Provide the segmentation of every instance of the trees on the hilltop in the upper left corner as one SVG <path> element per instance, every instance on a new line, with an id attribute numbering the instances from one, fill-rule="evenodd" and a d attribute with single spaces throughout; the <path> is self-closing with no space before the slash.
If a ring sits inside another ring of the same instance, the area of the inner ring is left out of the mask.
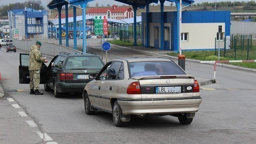
<path id="1" fill-rule="evenodd" d="M 34 10 L 44 10 L 41 0 L 28 0 L 25 2 L 16 2 L 14 4 L 0 6 L 0 16 L 8 16 L 8 10 L 33 8 Z"/>

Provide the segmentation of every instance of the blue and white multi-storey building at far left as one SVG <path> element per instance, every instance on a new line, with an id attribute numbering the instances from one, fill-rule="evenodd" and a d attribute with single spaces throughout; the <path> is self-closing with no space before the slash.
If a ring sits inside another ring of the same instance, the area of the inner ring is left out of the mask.
<path id="1" fill-rule="evenodd" d="M 48 14 L 46 10 L 34 10 L 32 8 L 10 10 L 8 11 L 8 18 L 11 38 L 14 28 L 18 29 L 19 39 L 29 39 L 35 36 L 48 37 Z"/>

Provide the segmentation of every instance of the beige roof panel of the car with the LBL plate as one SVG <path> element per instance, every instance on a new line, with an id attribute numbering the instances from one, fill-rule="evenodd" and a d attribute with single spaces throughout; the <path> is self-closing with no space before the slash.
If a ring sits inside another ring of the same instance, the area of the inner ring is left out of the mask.
<path id="1" fill-rule="evenodd" d="M 142 61 L 167 61 L 167 62 L 172 62 L 172 60 L 168 58 L 122 58 L 122 59 L 114 59 L 111 61 L 123 61 L 125 60 L 126 62 L 142 62 Z"/>

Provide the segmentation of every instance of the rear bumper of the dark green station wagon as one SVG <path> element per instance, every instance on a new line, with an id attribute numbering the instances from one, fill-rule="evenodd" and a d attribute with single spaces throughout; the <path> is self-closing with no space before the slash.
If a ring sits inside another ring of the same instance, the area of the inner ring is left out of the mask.
<path id="1" fill-rule="evenodd" d="M 84 86 L 87 83 L 65 83 L 58 82 L 56 83 L 56 87 L 58 92 L 83 92 Z"/>

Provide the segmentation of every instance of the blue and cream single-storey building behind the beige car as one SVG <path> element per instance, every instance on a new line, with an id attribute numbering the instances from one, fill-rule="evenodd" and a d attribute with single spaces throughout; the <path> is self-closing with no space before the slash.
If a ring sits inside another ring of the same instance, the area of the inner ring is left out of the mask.
<path id="1" fill-rule="evenodd" d="M 149 46 L 161 47 L 164 50 L 178 52 L 178 23 L 177 12 L 164 12 L 164 31 L 160 30 L 160 12 L 150 12 Z M 218 26 L 222 26 L 220 41 L 230 36 L 230 11 L 184 11 L 181 24 L 181 48 L 186 50 L 214 50 L 215 38 L 218 39 Z M 142 13 L 142 46 L 147 46 L 146 13 Z M 164 38 L 160 38 L 161 33 Z"/>

